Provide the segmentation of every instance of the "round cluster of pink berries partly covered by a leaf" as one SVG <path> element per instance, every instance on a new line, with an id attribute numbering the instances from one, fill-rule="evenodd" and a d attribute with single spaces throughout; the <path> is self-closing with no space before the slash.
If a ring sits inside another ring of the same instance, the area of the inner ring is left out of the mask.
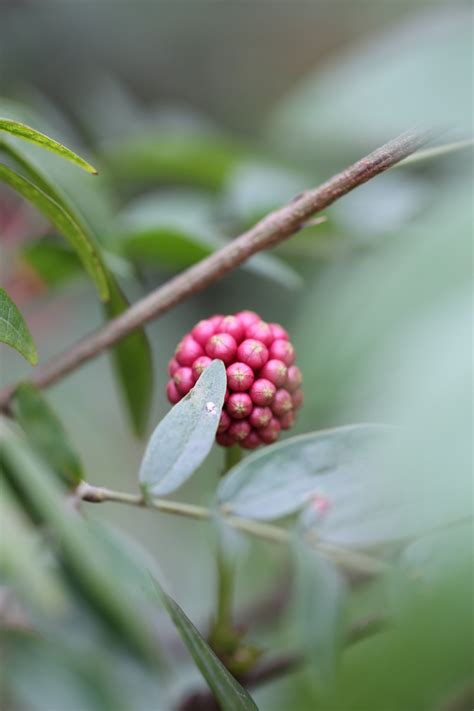
<path id="1" fill-rule="evenodd" d="M 168 400 L 181 400 L 214 359 L 227 370 L 217 442 L 245 449 L 275 442 L 281 430 L 293 425 L 303 402 L 301 371 L 285 329 L 253 311 L 199 321 L 169 362 Z"/>

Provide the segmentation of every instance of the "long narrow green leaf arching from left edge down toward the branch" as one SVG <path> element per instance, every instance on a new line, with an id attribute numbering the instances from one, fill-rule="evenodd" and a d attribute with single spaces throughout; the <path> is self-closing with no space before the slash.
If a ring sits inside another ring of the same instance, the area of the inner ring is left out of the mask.
<path id="1" fill-rule="evenodd" d="M 0 181 L 31 202 L 69 240 L 94 280 L 101 298 L 107 299 L 109 294 L 107 273 L 99 249 L 73 216 L 37 185 L 2 163 L 0 163 Z"/>

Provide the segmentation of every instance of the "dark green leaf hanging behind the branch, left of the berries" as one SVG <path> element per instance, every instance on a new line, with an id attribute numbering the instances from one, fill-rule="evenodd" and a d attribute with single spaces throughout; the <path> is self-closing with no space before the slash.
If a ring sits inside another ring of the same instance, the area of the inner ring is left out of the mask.
<path id="1" fill-rule="evenodd" d="M 110 319 L 123 313 L 129 303 L 115 280 L 109 279 L 109 293 L 104 310 Z M 153 396 L 153 360 L 145 329 L 137 329 L 119 341 L 111 356 L 133 430 L 141 436 L 146 431 Z"/>

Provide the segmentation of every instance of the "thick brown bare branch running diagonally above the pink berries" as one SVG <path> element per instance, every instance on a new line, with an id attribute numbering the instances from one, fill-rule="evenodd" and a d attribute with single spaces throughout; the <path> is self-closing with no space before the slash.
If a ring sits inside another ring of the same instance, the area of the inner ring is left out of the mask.
<path id="1" fill-rule="evenodd" d="M 357 186 L 411 155 L 427 138 L 426 134 L 408 131 L 319 187 L 298 195 L 288 205 L 271 212 L 222 249 L 181 272 L 101 329 L 85 336 L 69 350 L 37 368 L 31 381 L 37 387 L 44 388 L 60 380 L 67 373 L 118 343 L 136 328 L 221 279 L 257 252 L 283 242 L 298 232 L 315 213 L 324 210 Z M 13 391 L 14 387 L 10 386 L 0 393 L 0 408 L 8 406 Z"/>

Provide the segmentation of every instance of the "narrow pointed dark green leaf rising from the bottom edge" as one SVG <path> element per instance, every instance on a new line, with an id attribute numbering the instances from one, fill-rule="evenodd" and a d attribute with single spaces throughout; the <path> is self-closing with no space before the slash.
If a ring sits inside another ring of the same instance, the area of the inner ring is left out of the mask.
<path id="1" fill-rule="evenodd" d="M 185 615 L 179 605 L 167 595 L 157 581 L 156 590 L 166 611 L 173 620 L 181 639 L 188 648 L 196 666 L 215 695 L 223 711 L 255 711 L 258 707 L 247 691 L 234 679 L 207 642 Z"/>

